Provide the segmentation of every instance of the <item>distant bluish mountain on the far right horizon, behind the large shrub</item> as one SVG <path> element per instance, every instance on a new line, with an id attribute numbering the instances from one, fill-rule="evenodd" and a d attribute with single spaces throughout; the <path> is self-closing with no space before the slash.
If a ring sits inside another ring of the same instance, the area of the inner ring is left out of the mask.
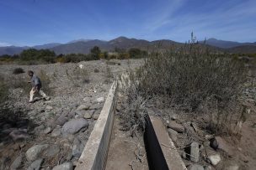
<path id="1" fill-rule="evenodd" d="M 200 43 L 204 43 L 204 41 L 200 41 Z M 205 41 L 205 44 L 219 47 L 222 49 L 230 49 L 230 48 L 234 48 L 237 46 L 244 46 L 244 45 L 256 46 L 256 43 L 238 43 L 238 42 L 234 42 L 234 41 L 224 41 L 224 40 L 219 40 L 219 39 L 207 39 Z"/>

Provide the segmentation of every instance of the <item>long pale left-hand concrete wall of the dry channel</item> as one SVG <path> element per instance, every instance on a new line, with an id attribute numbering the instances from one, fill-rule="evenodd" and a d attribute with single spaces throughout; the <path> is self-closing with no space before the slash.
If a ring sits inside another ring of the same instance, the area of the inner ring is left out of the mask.
<path id="1" fill-rule="evenodd" d="M 114 123 L 117 85 L 115 80 L 75 170 L 102 170 L 105 167 Z"/>

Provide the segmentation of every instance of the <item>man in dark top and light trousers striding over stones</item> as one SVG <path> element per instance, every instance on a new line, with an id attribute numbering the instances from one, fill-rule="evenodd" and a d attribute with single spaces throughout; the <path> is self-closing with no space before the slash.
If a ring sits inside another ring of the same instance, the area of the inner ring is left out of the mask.
<path id="1" fill-rule="evenodd" d="M 32 89 L 30 90 L 30 94 L 29 94 L 29 103 L 32 103 L 34 101 L 33 98 L 35 93 L 39 93 L 44 100 L 50 100 L 50 97 L 45 95 L 44 91 L 41 90 L 42 84 L 41 84 L 40 78 L 34 75 L 34 72 L 31 70 L 28 71 L 28 75 L 30 78 L 29 83 L 31 83 L 32 85 Z"/>

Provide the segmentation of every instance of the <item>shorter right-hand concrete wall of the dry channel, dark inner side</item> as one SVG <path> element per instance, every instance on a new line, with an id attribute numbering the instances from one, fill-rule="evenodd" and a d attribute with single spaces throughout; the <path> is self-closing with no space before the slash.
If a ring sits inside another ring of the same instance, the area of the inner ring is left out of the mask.
<path id="1" fill-rule="evenodd" d="M 180 157 L 177 148 L 173 144 L 172 139 L 168 136 L 168 131 L 163 125 L 163 121 L 155 116 L 149 116 L 148 120 L 150 121 L 149 124 L 152 126 L 151 133 L 155 133 L 157 137 L 157 141 L 155 142 L 157 144 L 155 144 L 155 146 L 160 146 L 163 152 L 162 162 L 165 160 L 168 165 L 168 168 L 166 169 L 187 170 L 187 167 L 185 167 L 185 164 Z M 156 151 L 152 152 L 152 154 L 156 154 L 155 152 Z M 152 157 L 154 157 L 154 155 Z"/>

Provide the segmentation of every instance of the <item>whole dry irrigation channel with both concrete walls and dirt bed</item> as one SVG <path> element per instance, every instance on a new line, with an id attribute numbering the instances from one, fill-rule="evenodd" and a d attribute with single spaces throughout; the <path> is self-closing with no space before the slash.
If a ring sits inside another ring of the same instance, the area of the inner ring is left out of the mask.
<path id="1" fill-rule="evenodd" d="M 76 170 L 137 169 L 132 166 L 132 159 L 136 157 L 136 154 L 131 149 L 137 143 L 130 142 L 123 131 L 119 130 L 119 120 L 115 116 L 118 90 L 119 83 L 115 80 L 109 90 L 99 119 L 78 160 Z M 166 127 L 157 117 L 147 117 L 143 142 L 142 151 L 145 151 L 146 162 L 138 169 L 187 169 L 168 136 Z"/>

